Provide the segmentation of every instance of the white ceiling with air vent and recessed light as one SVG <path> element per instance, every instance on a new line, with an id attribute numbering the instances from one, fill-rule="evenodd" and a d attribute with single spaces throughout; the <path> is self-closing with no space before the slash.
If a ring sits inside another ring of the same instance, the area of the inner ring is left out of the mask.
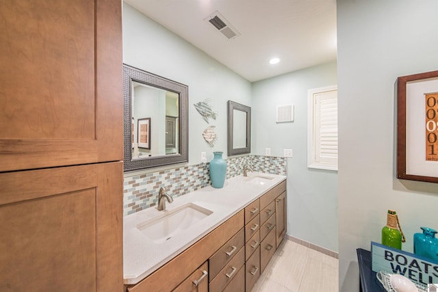
<path id="1" fill-rule="evenodd" d="M 336 0 L 124 1 L 248 81 L 336 59 Z M 216 10 L 240 36 L 205 21 Z"/>

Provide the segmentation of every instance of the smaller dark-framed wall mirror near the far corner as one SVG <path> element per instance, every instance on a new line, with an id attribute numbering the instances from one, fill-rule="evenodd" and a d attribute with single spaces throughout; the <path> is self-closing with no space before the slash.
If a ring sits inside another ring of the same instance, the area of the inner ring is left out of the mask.
<path id="1" fill-rule="evenodd" d="M 251 108 L 228 101 L 228 156 L 251 152 Z"/>

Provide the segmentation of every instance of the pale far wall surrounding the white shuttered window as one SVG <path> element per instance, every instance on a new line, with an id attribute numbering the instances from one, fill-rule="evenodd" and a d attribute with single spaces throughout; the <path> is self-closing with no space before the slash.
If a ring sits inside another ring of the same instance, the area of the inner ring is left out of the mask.
<path id="1" fill-rule="evenodd" d="M 287 159 L 287 234 L 323 248 L 338 250 L 337 172 L 307 168 L 307 90 L 337 84 L 336 62 L 253 83 L 255 155 Z M 276 123 L 276 106 L 294 104 L 294 122 Z"/>

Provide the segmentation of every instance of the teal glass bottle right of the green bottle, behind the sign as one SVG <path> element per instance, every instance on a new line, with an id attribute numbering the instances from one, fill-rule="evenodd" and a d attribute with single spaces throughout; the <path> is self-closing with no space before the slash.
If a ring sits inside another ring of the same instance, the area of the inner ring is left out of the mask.
<path id="1" fill-rule="evenodd" d="M 438 238 L 435 238 L 437 230 L 421 228 L 423 233 L 413 235 L 413 253 L 438 261 Z"/>

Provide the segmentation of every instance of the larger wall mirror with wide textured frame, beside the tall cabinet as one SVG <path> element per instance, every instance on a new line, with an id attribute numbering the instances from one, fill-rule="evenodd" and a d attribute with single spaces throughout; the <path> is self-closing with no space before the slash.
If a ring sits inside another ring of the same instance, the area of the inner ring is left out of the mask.
<path id="1" fill-rule="evenodd" d="M 188 162 L 188 86 L 123 64 L 124 171 Z"/>

